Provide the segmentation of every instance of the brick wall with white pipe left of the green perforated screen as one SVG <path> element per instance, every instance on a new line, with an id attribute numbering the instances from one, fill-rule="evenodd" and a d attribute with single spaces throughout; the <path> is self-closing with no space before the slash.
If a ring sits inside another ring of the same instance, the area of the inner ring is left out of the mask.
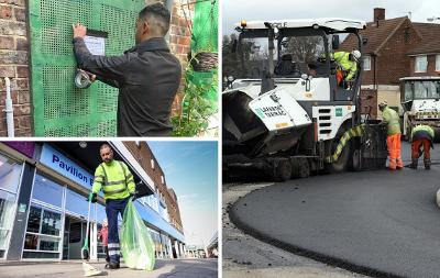
<path id="1" fill-rule="evenodd" d="M 4 77 L 11 78 L 15 136 L 32 135 L 25 0 L 0 0 L 0 136 L 7 135 Z"/>

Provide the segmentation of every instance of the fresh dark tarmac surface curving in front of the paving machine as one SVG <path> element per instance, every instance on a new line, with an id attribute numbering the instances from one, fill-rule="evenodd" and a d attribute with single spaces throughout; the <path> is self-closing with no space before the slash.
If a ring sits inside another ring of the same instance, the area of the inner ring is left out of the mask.
<path id="1" fill-rule="evenodd" d="M 403 143 L 403 151 L 404 160 L 409 163 L 409 144 Z M 432 157 L 439 163 L 439 145 Z M 430 171 L 405 168 L 290 180 L 253 189 L 228 212 L 248 234 L 284 252 L 321 262 L 315 265 L 320 270 L 329 265 L 348 269 L 339 274 L 348 277 L 356 277 L 353 273 L 440 277 L 440 210 L 435 199 L 438 177 L 440 166 L 433 165 Z M 226 238 L 223 235 L 223 244 Z M 307 264 L 297 260 L 299 267 Z M 326 273 L 317 277 L 332 276 Z"/>

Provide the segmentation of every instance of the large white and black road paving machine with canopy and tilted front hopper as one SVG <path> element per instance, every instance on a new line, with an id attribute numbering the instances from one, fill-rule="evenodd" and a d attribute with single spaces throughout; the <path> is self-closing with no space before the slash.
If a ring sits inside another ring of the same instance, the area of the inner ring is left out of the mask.
<path id="1" fill-rule="evenodd" d="M 331 58 L 340 35 L 353 34 L 362 52 L 363 29 L 363 21 L 339 18 L 235 25 L 241 76 L 224 78 L 224 178 L 263 174 L 284 181 L 385 166 L 383 125 L 361 116 L 362 59 L 354 80 L 341 86 Z"/>

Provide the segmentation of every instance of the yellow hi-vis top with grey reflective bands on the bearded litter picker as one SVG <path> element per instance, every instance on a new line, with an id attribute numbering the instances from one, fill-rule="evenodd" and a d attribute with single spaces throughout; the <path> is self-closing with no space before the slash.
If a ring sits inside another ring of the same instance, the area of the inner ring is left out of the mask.
<path id="1" fill-rule="evenodd" d="M 101 189 L 106 200 L 125 199 L 130 192 L 134 192 L 134 178 L 124 163 L 112 160 L 98 166 L 91 191 L 98 193 Z"/>

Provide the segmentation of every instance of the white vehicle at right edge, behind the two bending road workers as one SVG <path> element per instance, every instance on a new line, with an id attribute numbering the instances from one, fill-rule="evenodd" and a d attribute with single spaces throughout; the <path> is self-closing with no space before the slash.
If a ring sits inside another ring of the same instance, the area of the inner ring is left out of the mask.
<path id="1" fill-rule="evenodd" d="M 403 135 L 410 140 L 418 124 L 430 125 L 435 140 L 440 138 L 440 77 L 415 76 L 400 78 L 400 116 Z"/>

